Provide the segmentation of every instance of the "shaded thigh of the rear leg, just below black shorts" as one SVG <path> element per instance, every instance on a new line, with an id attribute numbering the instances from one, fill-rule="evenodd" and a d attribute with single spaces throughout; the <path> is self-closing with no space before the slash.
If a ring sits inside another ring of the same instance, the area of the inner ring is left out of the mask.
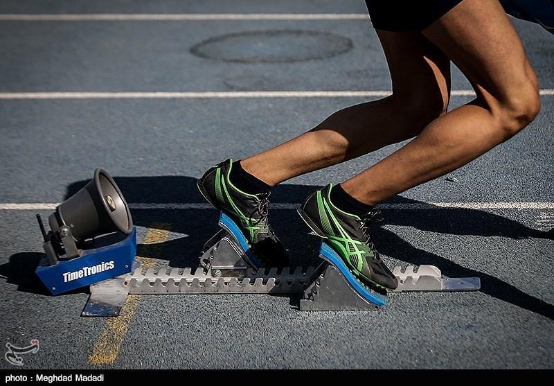
<path id="1" fill-rule="evenodd" d="M 450 94 L 450 60 L 418 31 L 377 30 L 391 73 L 393 97 L 414 105 L 442 104 Z"/>

